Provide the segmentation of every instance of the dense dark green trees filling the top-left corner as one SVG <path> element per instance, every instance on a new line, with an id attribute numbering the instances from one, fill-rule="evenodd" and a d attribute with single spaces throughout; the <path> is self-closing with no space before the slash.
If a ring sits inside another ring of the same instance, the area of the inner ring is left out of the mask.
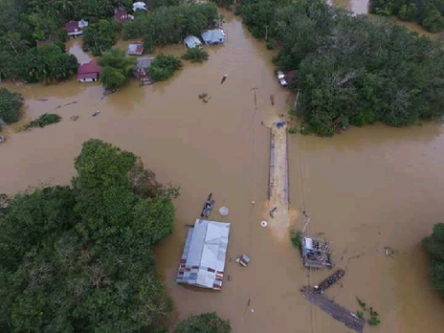
<path id="1" fill-rule="evenodd" d="M 64 52 L 63 42 L 67 33 L 63 28 L 67 21 L 83 19 L 94 25 L 100 19 L 113 17 L 114 9 L 119 6 L 131 9 L 132 1 L 0 0 L 0 76 L 21 78 L 28 82 L 64 80 L 72 74 L 72 70 L 67 68 L 69 66 L 60 64 L 67 62 L 67 59 L 55 57 L 54 54 L 38 54 L 40 52 L 32 50 L 36 43 L 52 40 Z M 104 35 L 100 34 L 100 38 L 93 36 L 99 39 L 102 50 L 109 44 L 109 39 Z M 59 67 L 56 70 L 47 67 L 53 61 Z M 45 74 L 48 69 L 52 71 L 51 75 Z"/>

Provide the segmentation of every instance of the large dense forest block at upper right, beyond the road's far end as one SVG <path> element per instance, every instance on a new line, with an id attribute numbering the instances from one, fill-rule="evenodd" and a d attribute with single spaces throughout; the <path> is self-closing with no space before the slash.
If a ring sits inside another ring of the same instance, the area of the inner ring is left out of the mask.
<path id="1" fill-rule="evenodd" d="M 333 135 L 349 124 L 392 126 L 443 114 L 444 52 L 439 41 L 383 19 L 330 8 L 321 0 L 242 4 L 255 36 L 281 45 L 282 71 L 298 69 L 298 112 L 306 129 Z"/>

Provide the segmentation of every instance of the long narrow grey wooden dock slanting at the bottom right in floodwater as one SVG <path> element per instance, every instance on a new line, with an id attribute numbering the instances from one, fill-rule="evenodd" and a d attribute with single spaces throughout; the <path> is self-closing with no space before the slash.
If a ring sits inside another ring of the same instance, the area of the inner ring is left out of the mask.
<path id="1" fill-rule="evenodd" d="M 322 294 L 314 293 L 313 287 L 305 286 L 301 289 L 302 296 L 318 305 L 324 312 L 329 313 L 337 321 L 341 321 L 349 329 L 353 329 L 358 333 L 362 333 L 364 329 L 365 320 L 358 318 L 356 314 L 345 309 L 345 307 L 338 305 L 333 300 L 325 297 Z"/>

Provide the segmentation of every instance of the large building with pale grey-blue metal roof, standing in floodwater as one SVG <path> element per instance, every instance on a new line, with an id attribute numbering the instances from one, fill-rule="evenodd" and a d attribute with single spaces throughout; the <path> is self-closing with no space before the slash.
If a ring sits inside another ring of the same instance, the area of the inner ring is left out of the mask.
<path id="1" fill-rule="evenodd" d="M 178 283 L 222 289 L 230 224 L 196 219 L 188 230 Z"/>

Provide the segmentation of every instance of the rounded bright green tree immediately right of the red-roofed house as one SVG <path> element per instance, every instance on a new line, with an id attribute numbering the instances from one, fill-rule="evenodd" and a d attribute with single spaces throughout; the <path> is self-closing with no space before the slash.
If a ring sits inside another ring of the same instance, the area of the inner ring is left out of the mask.
<path id="1" fill-rule="evenodd" d="M 100 83 L 106 89 L 115 89 L 127 83 L 131 78 L 136 59 L 129 58 L 121 49 L 111 49 L 99 59 Z"/>

